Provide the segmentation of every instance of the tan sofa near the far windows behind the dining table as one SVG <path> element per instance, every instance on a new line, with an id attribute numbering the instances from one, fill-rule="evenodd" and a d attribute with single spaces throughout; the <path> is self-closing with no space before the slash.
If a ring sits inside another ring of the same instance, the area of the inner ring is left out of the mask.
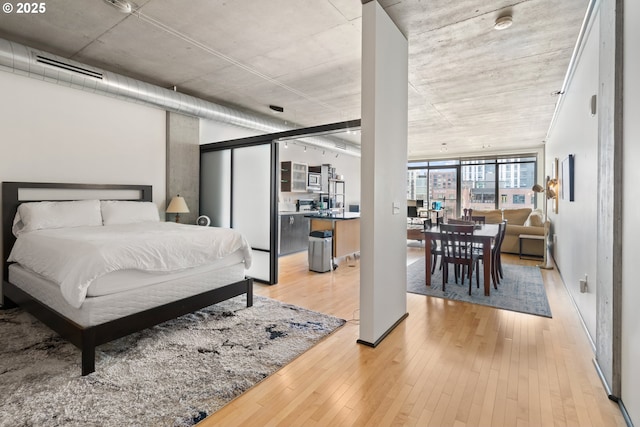
<path id="1" fill-rule="evenodd" d="M 487 224 L 497 224 L 504 219 L 507 220 L 507 231 L 502 242 L 500 252 L 519 254 L 521 234 L 544 236 L 545 224 L 543 214 L 540 210 L 522 209 L 490 209 L 475 210 L 473 216 L 484 216 Z M 547 229 L 549 221 L 547 221 Z M 522 242 L 522 254 L 539 256 L 544 255 L 544 240 L 528 240 Z"/>

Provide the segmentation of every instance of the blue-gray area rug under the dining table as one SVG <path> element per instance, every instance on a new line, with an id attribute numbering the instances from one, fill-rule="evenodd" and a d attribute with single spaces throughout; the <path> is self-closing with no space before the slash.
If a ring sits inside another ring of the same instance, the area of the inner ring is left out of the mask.
<path id="1" fill-rule="evenodd" d="M 439 263 L 438 266 L 440 266 Z M 464 284 L 460 283 L 460 279 L 458 284 L 455 284 L 453 267 L 449 267 L 449 280 L 445 292 L 442 291 L 442 270 L 436 269 L 431 278 L 431 286 L 427 287 L 424 268 L 424 260 L 418 260 L 407 267 L 408 292 L 551 317 L 551 308 L 538 267 L 503 264 L 504 279 L 500 281 L 498 289 L 494 289 L 493 283 L 491 284 L 491 295 L 488 297 L 484 296 L 482 264 L 480 264 L 480 289 L 476 288 L 474 272 L 471 295 L 469 295 L 468 278 L 465 279 Z"/>

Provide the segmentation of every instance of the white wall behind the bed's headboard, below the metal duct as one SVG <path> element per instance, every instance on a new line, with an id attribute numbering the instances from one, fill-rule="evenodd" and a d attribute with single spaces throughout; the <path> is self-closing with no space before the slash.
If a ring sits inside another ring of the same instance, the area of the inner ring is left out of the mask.
<path id="1" fill-rule="evenodd" d="M 164 208 L 163 110 L 4 71 L 0 94 L 1 181 L 151 184 Z"/>

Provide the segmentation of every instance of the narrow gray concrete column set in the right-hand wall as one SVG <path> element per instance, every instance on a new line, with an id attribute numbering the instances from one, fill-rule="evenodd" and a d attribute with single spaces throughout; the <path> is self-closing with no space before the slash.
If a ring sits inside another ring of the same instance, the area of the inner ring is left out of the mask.
<path id="1" fill-rule="evenodd" d="M 621 389 L 623 3 L 600 5 L 596 363 L 612 399 Z"/>

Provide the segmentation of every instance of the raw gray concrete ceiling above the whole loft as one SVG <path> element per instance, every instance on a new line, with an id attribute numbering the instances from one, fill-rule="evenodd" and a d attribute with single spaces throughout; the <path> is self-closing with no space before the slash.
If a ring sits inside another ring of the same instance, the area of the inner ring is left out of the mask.
<path id="1" fill-rule="evenodd" d="M 379 2 L 409 40 L 409 158 L 542 146 L 588 0 Z M 300 126 L 360 118 L 360 0 L 136 5 L 49 0 L 0 37 Z"/>

